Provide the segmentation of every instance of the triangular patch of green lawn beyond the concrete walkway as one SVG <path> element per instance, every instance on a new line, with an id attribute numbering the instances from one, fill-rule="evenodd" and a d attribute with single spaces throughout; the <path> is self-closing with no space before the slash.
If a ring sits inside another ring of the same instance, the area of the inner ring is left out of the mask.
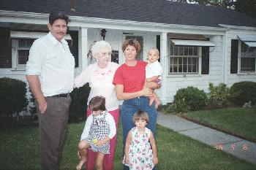
<path id="1" fill-rule="evenodd" d="M 182 114 L 190 120 L 256 142 L 256 107 L 199 110 Z"/>

